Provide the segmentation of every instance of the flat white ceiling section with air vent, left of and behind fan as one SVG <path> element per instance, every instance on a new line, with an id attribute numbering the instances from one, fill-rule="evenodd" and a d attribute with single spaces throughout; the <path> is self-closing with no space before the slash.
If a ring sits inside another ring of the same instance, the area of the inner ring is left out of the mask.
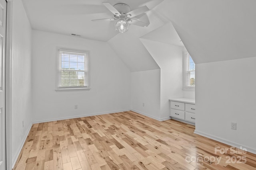
<path id="1" fill-rule="evenodd" d="M 32 29 L 87 39 L 108 41 L 116 34 L 114 21 L 91 21 L 113 18 L 102 4 L 106 0 L 22 0 Z M 110 4 L 128 4 L 131 10 L 141 6 L 152 9 L 162 0 L 107 0 Z"/>

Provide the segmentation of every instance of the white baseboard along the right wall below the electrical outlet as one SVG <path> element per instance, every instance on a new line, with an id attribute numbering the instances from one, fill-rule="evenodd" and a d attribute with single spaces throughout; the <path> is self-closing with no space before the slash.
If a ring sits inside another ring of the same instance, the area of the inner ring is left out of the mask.
<path id="1" fill-rule="evenodd" d="M 226 145 L 230 145 L 230 146 L 232 146 L 232 147 L 236 147 L 236 148 L 238 148 L 238 149 L 239 149 L 240 147 L 242 147 L 242 148 L 246 149 L 248 152 L 251 152 L 251 153 L 253 153 L 253 154 L 256 154 L 256 149 L 253 149 L 253 148 L 251 148 L 251 147 L 247 147 L 247 146 L 242 145 L 242 144 L 240 144 L 240 143 L 235 143 L 235 142 L 232 142 L 232 141 L 228 141 L 228 140 L 226 140 L 226 139 L 222 139 L 222 138 L 216 137 L 216 136 L 214 136 L 214 135 L 209 135 L 209 134 L 206 134 L 206 133 L 204 133 L 204 132 L 197 131 L 197 130 L 195 130 L 194 133 L 196 133 L 197 135 L 201 135 L 201 136 L 204 136 L 204 137 L 208 137 L 208 138 L 210 138 L 210 139 L 213 139 L 213 140 L 215 140 L 215 141 L 224 143 L 224 144 L 226 144 Z"/>

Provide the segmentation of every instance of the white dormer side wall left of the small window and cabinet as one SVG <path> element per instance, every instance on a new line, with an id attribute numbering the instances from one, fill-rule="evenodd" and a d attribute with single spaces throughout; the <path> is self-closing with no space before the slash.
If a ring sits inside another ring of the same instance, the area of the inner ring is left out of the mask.
<path id="1" fill-rule="evenodd" d="M 170 117 L 170 98 L 181 98 L 183 47 L 141 39 L 142 43 L 160 67 L 160 120 Z"/>

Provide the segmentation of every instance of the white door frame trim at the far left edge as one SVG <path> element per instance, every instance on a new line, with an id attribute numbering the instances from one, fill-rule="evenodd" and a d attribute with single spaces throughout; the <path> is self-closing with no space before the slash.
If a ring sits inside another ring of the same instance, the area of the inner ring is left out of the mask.
<path id="1" fill-rule="evenodd" d="M 12 2 L 6 0 L 6 92 L 5 92 L 5 126 L 6 126 L 6 170 L 12 170 Z"/>

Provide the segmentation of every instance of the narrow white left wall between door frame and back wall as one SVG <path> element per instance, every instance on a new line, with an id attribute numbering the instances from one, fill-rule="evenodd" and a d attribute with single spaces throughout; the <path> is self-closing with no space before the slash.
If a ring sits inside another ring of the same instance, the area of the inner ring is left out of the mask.
<path id="1" fill-rule="evenodd" d="M 22 1 L 15 0 L 12 3 L 12 163 L 14 164 L 32 122 L 32 57 L 31 26 Z"/>

